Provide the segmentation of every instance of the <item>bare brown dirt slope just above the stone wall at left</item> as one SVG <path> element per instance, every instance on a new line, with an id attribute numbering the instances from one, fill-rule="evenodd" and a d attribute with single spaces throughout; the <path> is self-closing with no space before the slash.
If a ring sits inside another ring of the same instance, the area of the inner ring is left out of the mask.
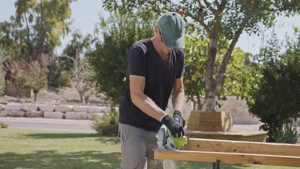
<path id="1" fill-rule="evenodd" d="M 96 91 L 93 91 L 96 93 Z M 37 96 L 37 101 L 34 98 L 16 98 L 10 96 L 0 96 L 0 104 L 7 103 L 37 103 L 37 104 L 68 104 L 68 105 L 82 105 L 80 102 L 79 93 L 75 87 L 67 87 L 64 89 L 48 87 L 43 89 Z M 110 102 L 106 101 L 105 94 L 92 94 L 89 96 L 89 101 L 86 105 L 108 106 Z"/>

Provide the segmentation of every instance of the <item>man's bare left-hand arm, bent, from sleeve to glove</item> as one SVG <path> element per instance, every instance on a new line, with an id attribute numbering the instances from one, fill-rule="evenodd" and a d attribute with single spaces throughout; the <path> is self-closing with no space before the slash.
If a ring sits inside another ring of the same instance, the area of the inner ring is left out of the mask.
<path id="1" fill-rule="evenodd" d="M 145 112 L 147 115 L 160 121 L 166 112 L 162 110 L 156 103 L 144 94 L 145 77 L 129 75 L 130 95 L 134 105 Z"/>

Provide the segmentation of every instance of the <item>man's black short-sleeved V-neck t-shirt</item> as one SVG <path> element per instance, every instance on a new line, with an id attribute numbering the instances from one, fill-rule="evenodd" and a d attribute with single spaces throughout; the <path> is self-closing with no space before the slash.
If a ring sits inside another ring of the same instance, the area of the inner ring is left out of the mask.
<path id="1" fill-rule="evenodd" d="M 165 110 L 175 78 L 182 77 L 185 72 L 184 59 L 184 51 L 181 48 L 173 48 L 170 60 L 165 62 L 151 39 L 134 43 L 127 57 L 126 88 L 119 107 L 119 122 L 148 131 L 158 131 L 161 122 L 148 116 L 132 103 L 129 75 L 144 76 L 144 94 Z"/>

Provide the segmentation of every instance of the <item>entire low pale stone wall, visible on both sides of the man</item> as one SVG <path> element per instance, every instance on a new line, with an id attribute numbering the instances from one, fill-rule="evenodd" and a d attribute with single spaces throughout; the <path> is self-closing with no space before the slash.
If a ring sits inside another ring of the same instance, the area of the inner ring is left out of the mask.
<path id="1" fill-rule="evenodd" d="M 186 100 L 184 103 L 184 117 L 189 117 L 194 104 Z M 118 111 L 118 107 L 116 107 Z M 250 115 L 246 100 L 236 100 L 228 96 L 225 104 L 217 110 L 230 111 L 234 124 L 258 124 L 259 119 Z M 0 117 L 38 117 L 58 119 L 92 119 L 93 115 L 103 116 L 110 111 L 105 106 L 77 106 L 77 105 L 48 105 L 48 104 L 0 104 Z M 172 99 L 169 99 L 166 112 L 173 112 Z"/>

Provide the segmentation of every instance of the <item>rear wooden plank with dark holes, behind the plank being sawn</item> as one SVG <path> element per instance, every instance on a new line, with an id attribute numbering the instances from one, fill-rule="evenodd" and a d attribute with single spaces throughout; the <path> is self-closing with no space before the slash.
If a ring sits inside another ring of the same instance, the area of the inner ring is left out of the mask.
<path id="1" fill-rule="evenodd" d="M 300 157 L 300 145 L 190 138 L 187 150 Z"/>

